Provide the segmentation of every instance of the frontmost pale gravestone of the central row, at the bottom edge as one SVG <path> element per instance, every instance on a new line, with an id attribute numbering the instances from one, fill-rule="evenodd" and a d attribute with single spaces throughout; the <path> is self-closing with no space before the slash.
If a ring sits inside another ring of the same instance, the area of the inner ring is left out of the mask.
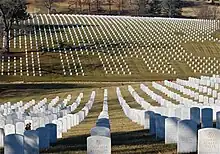
<path id="1" fill-rule="evenodd" d="M 88 137 L 87 154 L 111 154 L 111 139 L 105 136 Z"/>

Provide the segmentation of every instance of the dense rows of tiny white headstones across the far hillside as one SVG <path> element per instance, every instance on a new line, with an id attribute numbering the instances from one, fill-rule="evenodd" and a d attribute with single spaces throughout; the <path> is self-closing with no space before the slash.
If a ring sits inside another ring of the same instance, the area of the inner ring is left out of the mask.
<path id="1" fill-rule="evenodd" d="M 64 49 L 62 51 L 61 46 L 58 45 L 63 75 L 85 75 L 79 56 L 80 53 L 83 54 L 84 48 L 87 54 L 90 51 L 93 55 L 95 53 L 98 54 L 106 74 L 131 74 L 132 70 L 130 70 L 129 65 L 124 59 L 124 57 L 129 56 L 136 58 L 140 56 L 152 73 L 176 74 L 175 69 L 169 63 L 171 60 L 184 60 L 194 72 L 199 73 L 214 73 L 219 68 L 218 65 L 214 65 L 219 63 L 218 59 L 194 56 L 192 53 L 187 53 L 181 45 L 182 42 L 188 41 L 218 41 L 218 39 L 211 36 L 214 31 L 219 29 L 218 21 L 117 16 L 73 16 L 68 14 L 32 14 L 32 17 L 33 19 L 24 21 L 20 25 L 34 25 L 34 35 L 32 32 L 24 30 L 24 40 L 22 41 L 22 36 L 18 38 L 20 49 L 22 49 L 22 43 L 24 42 L 25 44 L 25 69 L 27 76 L 31 74 L 33 76 L 36 75 L 36 65 L 39 76 L 42 75 L 39 52 L 36 52 L 37 64 L 35 64 L 34 52 L 31 52 L 32 73 L 30 72 L 28 49 L 32 50 L 35 46 L 37 51 L 46 48 L 50 52 L 52 47 L 52 50 L 55 52 L 55 42 L 64 41 L 73 46 L 80 45 L 80 50 L 69 49 L 67 51 L 67 49 Z M 90 26 L 80 26 L 88 24 Z M 47 25 L 51 25 L 52 28 L 49 27 L 47 30 Z M 64 33 L 62 33 L 62 30 Z M 183 33 L 183 35 L 176 35 L 176 32 Z M 21 34 L 21 30 L 19 32 L 14 30 L 13 35 L 16 36 L 17 33 Z M 198 38 L 195 38 L 195 36 Z M 100 42 L 99 38 L 101 38 L 104 44 Z M 35 42 L 33 41 L 34 39 Z M 29 44 L 28 41 L 30 42 Z M 89 44 L 94 44 L 95 49 L 87 47 L 86 41 Z M 82 42 L 84 47 L 81 46 L 80 42 Z M 17 48 L 16 37 L 13 43 L 13 47 Z M 120 47 L 115 49 L 113 44 L 117 43 L 119 43 Z M 101 52 L 98 51 L 99 49 Z M 14 75 L 18 75 L 15 63 L 18 60 L 16 57 L 13 59 Z M 4 63 L 6 61 L 8 64 L 7 71 L 4 71 Z M 11 61 L 10 57 L 2 57 L 1 75 L 12 75 L 10 73 L 10 69 L 13 67 L 11 67 Z M 22 67 L 22 57 L 20 57 L 19 61 L 20 75 L 24 75 L 22 72 L 22 69 L 24 69 Z M 73 65 L 71 66 L 71 64 Z M 79 68 L 77 68 L 77 64 L 79 64 Z"/>

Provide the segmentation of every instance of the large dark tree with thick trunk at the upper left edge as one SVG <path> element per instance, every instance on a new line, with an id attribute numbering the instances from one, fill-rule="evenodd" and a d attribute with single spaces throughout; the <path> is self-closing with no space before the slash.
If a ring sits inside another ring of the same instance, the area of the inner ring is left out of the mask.
<path id="1" fill-rule="evenodd" d="M 0 17 L 3 24 L 4 53 L 9 53 L 10 30 L 15 23 L 28 19 L 27 3 L 25 0 L 1 0 Z"/>

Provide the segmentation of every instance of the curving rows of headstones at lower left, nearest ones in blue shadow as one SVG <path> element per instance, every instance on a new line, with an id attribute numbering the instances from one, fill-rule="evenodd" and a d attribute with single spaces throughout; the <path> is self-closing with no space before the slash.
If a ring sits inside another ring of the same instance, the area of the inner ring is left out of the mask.
<path id="1" fill-rule="evenodd" d="M 62 138 L 62 133 L 79 125 L 88 115 L 94 103 L 94 91 L 85 106 L 79 112 L 71 114 L 80 104 L 82 97 L 81 93 L 71 105 L 67 105 L 71 100 L 71 95 L 68 95 L 60 104 L 57 104 L 58 97 L 49 104 L 46 101 L 40 101 L 32 107 L 28 116 L 24 113 L 23 118 L 17 117 L 17 120 L 13 118 L 12 122 L 15 124 L 6 124 L 4 128 L 0 128 L 0 143 L 1 147 L 4 147 L 4 153 L 30 154 L 39 153 L 39 150 L 49 148 L 50 144 L 57 141 L 57 138 Z M 56 104 L 57 110 L 53 110 Z M 7 115 L 7 118 L 11 115 L 15 114 Z M 27 124 L 31 126 L 28 130 L 25 128 Z"/>

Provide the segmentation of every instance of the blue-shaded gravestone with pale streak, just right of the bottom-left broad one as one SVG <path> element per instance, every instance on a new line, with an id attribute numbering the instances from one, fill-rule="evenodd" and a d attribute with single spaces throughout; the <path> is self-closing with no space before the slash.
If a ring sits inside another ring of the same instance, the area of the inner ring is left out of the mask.
<path id="1" fill-rule="evenodd" d="M 36 130 L 24 132 L 24 154 L 39 154 L 39 136 Z"/>

